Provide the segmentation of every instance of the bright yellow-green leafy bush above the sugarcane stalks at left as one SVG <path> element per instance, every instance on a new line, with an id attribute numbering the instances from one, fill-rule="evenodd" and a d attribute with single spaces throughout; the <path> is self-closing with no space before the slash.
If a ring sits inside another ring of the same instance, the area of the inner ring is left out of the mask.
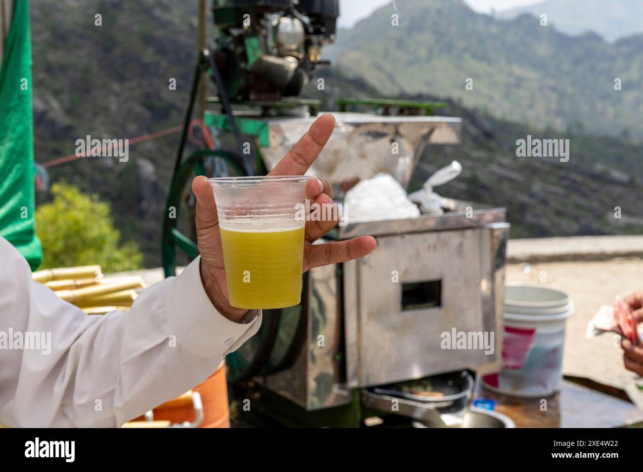
<path id="1" fill-rule="evenodd" d="M 141 267 L 143 255 L 131 241 L 120 242 L 109 204 L 66 182 L 51 186 L 53 201 L 36 210 L 42 267 L 100 264 L 104 272 Z"/>

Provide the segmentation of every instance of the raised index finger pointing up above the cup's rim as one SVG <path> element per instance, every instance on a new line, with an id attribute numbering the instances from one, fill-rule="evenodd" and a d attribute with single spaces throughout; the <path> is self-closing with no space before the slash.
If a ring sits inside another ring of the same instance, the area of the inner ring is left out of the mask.
<path id="1" fill-rule="evenodd" d="M 321 115 L 268 175 L 305 174 L 331 137 L 334 127 L 334 116 L 328 113 Z"/>

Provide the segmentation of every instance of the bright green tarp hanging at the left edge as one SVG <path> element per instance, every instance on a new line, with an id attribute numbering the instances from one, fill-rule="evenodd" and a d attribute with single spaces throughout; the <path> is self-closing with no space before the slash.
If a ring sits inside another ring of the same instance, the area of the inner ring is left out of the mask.
<path id="1" fill-rule="evenodd" d="M 15 0 L 0 69 L 0 236 L 23 254 L 32 270 L 42 261 L 34 232 L 34 173 L 29 8 L 27 0 Z"/>

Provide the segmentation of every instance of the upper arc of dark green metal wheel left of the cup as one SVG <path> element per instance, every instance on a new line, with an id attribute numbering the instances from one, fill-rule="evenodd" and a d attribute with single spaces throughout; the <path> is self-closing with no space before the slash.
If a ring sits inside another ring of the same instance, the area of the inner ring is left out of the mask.
<path id="1" fill-rule="evenodd" d="M 205 168 L 203 161 L 206 157 L 215 156 L 224 159 L 239 175 L 246 175 L 239 163 L 237 162 L 237 155 L 232 152 L 220 149 L 205 149 L 200 150 L 188 157 L 179 166 L 174 180 L 170 186 L 170 191 L 167 196 L 165 204 L 165 216 L 163 218 L 163 270 L 165 277 L 175 275 L 176 270 L 176 248 L 183 250 L 189 258 L 194 259 L 199 255 L 196 243 L 190 238 L 185 236 L 177 229 L 177 222 L 179 220 L 179 207 L 181 204 L 181 197 L 185 191 L 186 185 L 189 184 L 188 178 L 192 173 L 195 175 L 205 175 Z M 174 207 L 174 218 L 170 218 L 170 209 Z"/>

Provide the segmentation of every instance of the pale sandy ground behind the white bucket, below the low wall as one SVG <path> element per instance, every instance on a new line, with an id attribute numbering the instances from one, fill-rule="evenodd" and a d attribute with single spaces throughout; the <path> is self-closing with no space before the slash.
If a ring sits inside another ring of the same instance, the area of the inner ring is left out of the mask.
<path id="1" fill-rule="evenodd" d="M 572 294 L 575 313 L 566 327 L 565 374 L 620 388 L 631 385 L 637 378 L 623 367 L 616 335 L 605 333 L 586 339 L 585 331 L 599 307 L 612 305 L 615 295 L 625 297 L 643 290 L 642 259 L 511 264 L 507 265 L 506 277 L 507 283 L 544 284 Z"/>

